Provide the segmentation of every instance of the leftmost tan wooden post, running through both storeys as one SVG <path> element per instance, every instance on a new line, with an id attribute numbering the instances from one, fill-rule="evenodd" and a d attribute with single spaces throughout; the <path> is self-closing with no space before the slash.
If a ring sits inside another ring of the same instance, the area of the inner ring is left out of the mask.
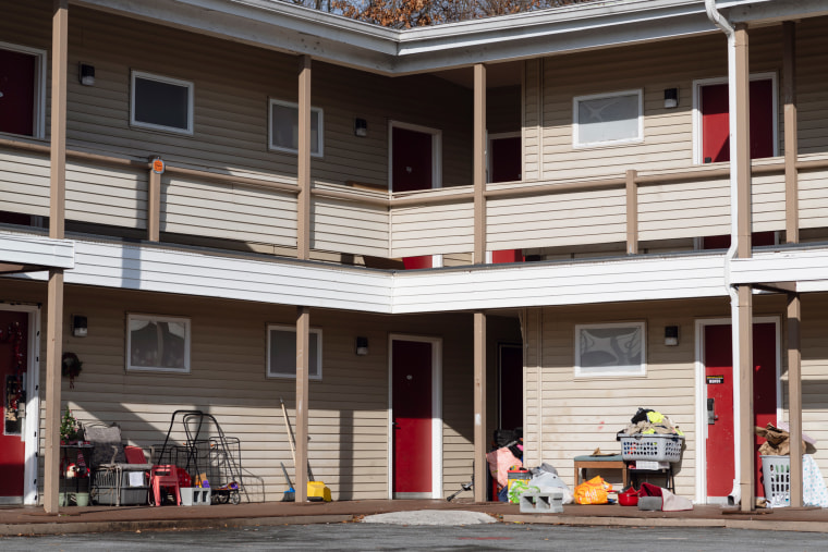
<path id="1" fill-rule="evenodd" d="M 66 199 L 66 71 L 69 1 L 54 0 L 52 10 L 52 95 L 49 236 L 64 237 Z M 46 432 L 44 510 L 58 513 L 60 483 L 60 384 L 63 356 L 63 270 L 49 270 L 46 328 Z M 35 392 L 34 390 L 31 392 Z M 38 413 L 32 413 L 37 419 Z"/>

